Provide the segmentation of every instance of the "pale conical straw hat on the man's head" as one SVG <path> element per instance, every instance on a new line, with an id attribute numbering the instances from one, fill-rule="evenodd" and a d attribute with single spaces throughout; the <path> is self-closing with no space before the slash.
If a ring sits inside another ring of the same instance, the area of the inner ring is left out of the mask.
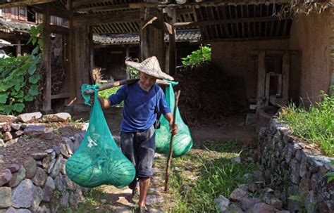
<path id="1" fill-rule="evenodd" d="M 131 60 L 125 60 L 125 65 L 127 65 L 128 67 L 132 67 L 140 72 L 144 72 L 147 75 L 154 76 L 158 79 L 167 79 L 171 81 L 174 80 L 174 78 L 171 77 L 171 75 L 168 75 L 165 72 L 161 71 L 159 61 L 156 58 L 156 56 L 147 58 L 142 63 L 137 63 Z"/>

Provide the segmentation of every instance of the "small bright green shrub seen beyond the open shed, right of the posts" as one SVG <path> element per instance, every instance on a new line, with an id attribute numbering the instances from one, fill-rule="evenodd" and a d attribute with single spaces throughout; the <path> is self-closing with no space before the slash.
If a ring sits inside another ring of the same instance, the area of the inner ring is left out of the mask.
<path id="1" fill-rule="evenodd" d="M 206 61 L 211 61 L 211 46 L 199 46 L 197 51 L 192 51 L 189 56 L 182 58 L 183 65 L 194 67 L 197 67 Z"/>

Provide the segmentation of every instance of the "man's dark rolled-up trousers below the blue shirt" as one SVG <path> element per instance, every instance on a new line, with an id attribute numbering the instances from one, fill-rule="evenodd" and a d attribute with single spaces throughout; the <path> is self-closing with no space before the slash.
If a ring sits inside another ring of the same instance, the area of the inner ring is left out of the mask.
<path id="1" fill-rule="evenodd" d="M 137 178 L 153 175 L 152 164 L 156 150 L 154 126 L 138 132 L 121 132 L 120 148 L 125 157 L 135 165 Z"/>

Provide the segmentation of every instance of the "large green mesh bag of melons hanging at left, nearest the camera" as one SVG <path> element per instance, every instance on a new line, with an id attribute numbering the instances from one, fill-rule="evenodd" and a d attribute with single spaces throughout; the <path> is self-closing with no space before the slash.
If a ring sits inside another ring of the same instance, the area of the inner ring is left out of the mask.
<path id="1" fill-rule="evenodd" d="M 90 96 L 83 93 L 86 89 L 95 91 L 89 127 L 80 147 L 66 162 L 66 174 L 73 182 L 88 188 L 102 184 L 123 188 L 135 178 L 135 167 L 113 140 L 97 99 L 97 86 L 81 87 L 85 103 L 90 105 Z"/>

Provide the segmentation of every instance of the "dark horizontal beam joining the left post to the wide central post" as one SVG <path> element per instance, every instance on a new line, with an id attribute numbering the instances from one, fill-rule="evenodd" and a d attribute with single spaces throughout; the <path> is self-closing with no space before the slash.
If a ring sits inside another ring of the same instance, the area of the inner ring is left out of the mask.
<path id="1" fill-rule="evenodd" d="M 139 11 L 118 11 L 114 13 L 106 14 L 94 14 L 94 15 L 76 15 L 73 17 L 74 22 L 82 23 L 85 25 L 101 25 L 104 23 L 116 23 L 116 22 L 136 22 L 140 21 Z"/>

